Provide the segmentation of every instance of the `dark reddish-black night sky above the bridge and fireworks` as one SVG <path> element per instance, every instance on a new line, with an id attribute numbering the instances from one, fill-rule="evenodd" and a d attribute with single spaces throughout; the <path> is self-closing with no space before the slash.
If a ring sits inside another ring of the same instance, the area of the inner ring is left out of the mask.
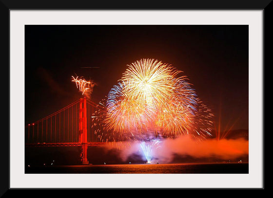
<path id="1" fill-rule="evenodd" d="M 26 25 L 25 124 L 81 97 L 72 75 L 95 81 L 98 103 L 141 58 L 183 71 L 216 126 L 248 129 L 247 25 Z"/>

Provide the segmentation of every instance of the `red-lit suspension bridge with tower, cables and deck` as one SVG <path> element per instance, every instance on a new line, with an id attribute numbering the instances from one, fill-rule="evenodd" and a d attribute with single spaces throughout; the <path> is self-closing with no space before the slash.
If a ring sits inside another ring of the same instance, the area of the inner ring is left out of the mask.
<path id="1" fill-rule="evenodd" d="M 89 164 L 88 146 L 105 144 L 99 141 L 91 126 L 92 114 L 102 109 L 84 98 L 25 127 L 25 145 L 28 147 L 78 146 L 79 161 Z"/>

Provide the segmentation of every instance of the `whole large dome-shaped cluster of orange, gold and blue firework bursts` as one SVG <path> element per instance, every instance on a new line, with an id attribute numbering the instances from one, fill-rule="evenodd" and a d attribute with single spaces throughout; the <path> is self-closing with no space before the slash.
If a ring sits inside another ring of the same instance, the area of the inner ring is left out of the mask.
<path id="1" fill-rule="evenodd" d="M 210 135 L 211 110 L 196 97 L 181 71 L 154 59 L 141 59 L 123 73 L 107 98 L 105 127 L 133 136 Z"/>

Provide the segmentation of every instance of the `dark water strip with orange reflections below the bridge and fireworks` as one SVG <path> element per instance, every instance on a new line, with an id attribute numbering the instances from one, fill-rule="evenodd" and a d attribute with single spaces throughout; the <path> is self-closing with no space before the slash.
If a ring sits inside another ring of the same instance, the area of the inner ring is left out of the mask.
<path id="1" fill-rule="evenodd" d="M 25 173 L 35 174 L 247 174 L 248 171 L 248 163 L 65 165 L 26 167 L 25 169 Z"/>

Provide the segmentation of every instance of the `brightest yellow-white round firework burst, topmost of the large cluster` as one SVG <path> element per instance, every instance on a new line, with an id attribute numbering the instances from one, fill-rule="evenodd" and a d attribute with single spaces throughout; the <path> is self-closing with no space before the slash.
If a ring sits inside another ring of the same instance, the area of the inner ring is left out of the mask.
<path id="1" fill-rule="evenodd" d="M 174 93 L 172 79 L 181 71 L 153 59 L 142 59 L 128 66 L 121 80 L 129 100 L 138 101 L 142 107 L 152 107 L 163 104 Z"/>

